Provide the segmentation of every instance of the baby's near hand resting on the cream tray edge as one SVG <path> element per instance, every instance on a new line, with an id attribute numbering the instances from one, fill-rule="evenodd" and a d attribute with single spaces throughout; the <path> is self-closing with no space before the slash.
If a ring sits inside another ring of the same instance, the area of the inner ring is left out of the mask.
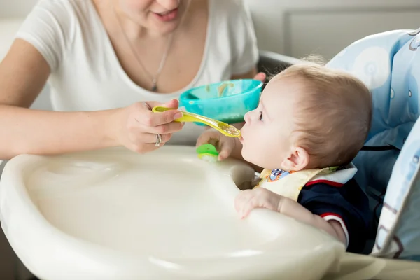
<path id="1" fill-rule="evenodd" d="M 279 211 L 281 198 L 281 195 L 277 195 L 266 188 L 242 190 L 235 198 L 235 209 L 241 218 L 248 216 L 254 208 L 267 208 Z"/>

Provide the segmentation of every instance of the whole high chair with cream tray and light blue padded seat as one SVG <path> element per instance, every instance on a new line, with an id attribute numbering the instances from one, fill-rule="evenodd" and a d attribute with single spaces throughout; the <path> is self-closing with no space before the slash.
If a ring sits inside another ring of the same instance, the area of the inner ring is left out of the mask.
<path id="1" fill-rule="evenodd" d="M 419 33 L 368 36 L 328 63 L 373 94 L 354 160 L 374 221 L 367 255 L 267 209 L 239 219 L 237 186 L 253 169 L 184 146 L 13 158 L 0 182 L 3 231 L 43 280 L 420 279 Z"/>

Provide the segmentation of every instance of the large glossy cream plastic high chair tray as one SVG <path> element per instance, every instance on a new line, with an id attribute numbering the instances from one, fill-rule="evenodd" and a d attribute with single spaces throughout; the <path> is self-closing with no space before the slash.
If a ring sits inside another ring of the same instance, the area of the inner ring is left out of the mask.
<path id="1" fill-rule="evenodd" d="M 43 280 L 321 279 L 344 246 L 274 211 L 241 220 L 235 183 L 252 177 L 183 146 L 20 155 L 1 179 L 1 225 Z"/>

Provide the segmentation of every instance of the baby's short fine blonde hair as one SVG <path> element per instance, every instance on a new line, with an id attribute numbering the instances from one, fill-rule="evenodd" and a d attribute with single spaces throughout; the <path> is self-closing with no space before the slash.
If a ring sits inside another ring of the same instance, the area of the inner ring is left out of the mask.
<path id="1" fill-rule="evenodd" d="M 346 165 L 366 141 L 372 122 L 372 96 L 367 87 L 344 71 L 314 63 L 295 64 L 276 79 L 300 82 L 295 111 L 296 146 L 309 153 L 307 168 Z"/>

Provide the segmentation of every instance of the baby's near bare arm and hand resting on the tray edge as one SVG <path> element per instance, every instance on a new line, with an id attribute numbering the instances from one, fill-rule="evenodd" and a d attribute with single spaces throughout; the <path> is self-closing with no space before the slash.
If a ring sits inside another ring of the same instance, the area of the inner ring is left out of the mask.
<path id="1" fill-rule="evenodd" d="M 344 244 L 347 242 L 344 229 L 338 221 L 325 221 L 324 218 L 312 214 L 311 211 L 294 200 L 277 195 L 266 188 L 242 191 L 235 200 L 235 208 L 242 218 L 248 216 L 249 212 L 254 208 L 267 208 L 278 211 L 281 214 L 324 230 Z"/>

